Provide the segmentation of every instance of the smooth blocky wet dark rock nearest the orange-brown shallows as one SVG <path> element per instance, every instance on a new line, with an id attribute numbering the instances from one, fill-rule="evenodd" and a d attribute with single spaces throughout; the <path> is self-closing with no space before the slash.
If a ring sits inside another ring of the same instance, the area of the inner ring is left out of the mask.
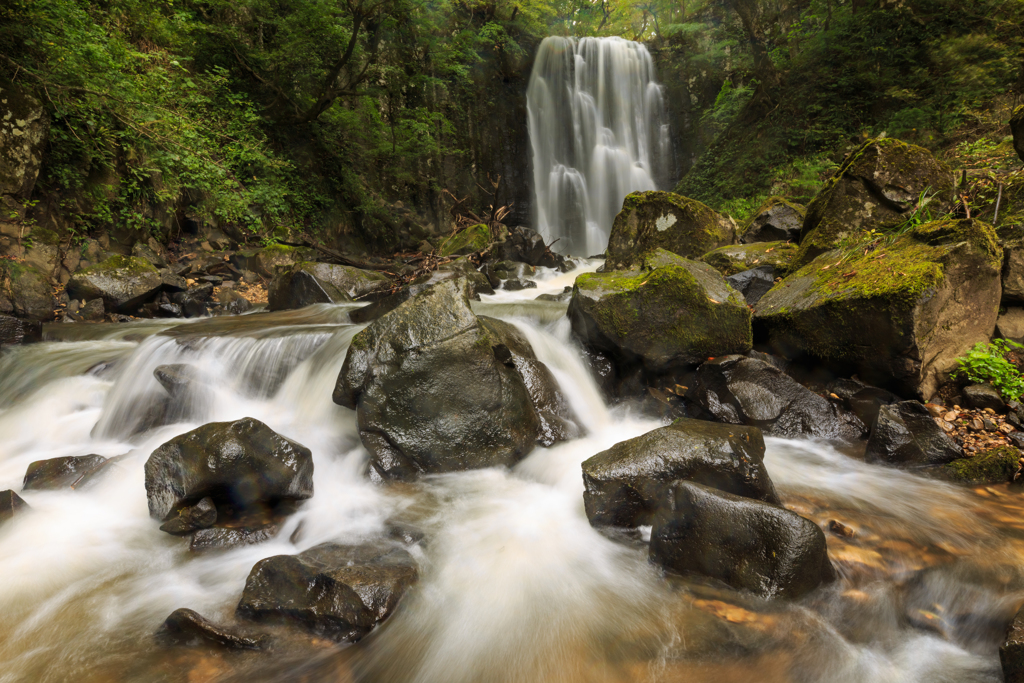
<path id="1" fill-rule="evenodd" d="M 654 517 L 650 558 L 763 598 L 799 598 L 836 577 L 814 522 L 689 481 L 669 488 Z"/>

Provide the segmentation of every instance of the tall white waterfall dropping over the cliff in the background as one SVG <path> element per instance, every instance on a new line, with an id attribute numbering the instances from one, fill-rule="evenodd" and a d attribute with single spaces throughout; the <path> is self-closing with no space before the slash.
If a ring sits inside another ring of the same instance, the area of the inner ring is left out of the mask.
<path id="1" fill-rule="evenodd" d="M 623 199 L 668 181 L 669 124 L 650 53 L 622 38 L 545 38 L 526 110 L 538 231 L 566 254 L 604 251 Z"/>

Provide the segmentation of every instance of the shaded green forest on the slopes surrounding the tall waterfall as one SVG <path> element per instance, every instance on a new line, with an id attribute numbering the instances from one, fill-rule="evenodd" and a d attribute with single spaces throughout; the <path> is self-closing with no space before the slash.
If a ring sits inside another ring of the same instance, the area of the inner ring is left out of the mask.
<path id="1" fill-rule="evenodd" d="M 740 219 L 881 133 L 1019 165 L 1024 0 L 9 0 L 0 88 L 49 133 L 2 218 L 51 244 L 206 224 L 393 252 L 482 214 L 501 176 L 528 223 L 524 93 L 552 34 L 645 41 L 677 191 Z"/>

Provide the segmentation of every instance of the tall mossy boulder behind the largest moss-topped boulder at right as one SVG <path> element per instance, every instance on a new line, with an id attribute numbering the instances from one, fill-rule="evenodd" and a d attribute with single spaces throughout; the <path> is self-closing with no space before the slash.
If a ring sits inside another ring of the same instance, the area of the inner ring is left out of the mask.
<path id="1" fill-rule="evenodd" d="M 807 207 L 795 267 L 863 230 L 906 221 L 922 196 L 942 215 L 952 200 L 953 173 L 931 152 L 895 138 L 869 140 L 846 158 Z"/>

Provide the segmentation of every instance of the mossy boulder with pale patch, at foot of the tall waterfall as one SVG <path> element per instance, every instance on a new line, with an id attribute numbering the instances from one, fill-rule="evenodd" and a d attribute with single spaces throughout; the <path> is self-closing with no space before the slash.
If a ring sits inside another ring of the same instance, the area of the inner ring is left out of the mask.
<path id="1" fill-rule="evenodd" d="M 623 201 L 608 238 L 605 267 L 638 267 L 646 255 L 665 249 L 683 258 L 700 258 L 736 242 L 736 223 L 681 195 L 633 193 Z"/>

